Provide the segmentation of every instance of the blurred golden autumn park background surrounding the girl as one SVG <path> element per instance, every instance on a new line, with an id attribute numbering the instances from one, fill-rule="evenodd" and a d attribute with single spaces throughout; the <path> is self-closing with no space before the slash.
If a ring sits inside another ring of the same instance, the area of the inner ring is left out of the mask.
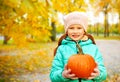
<path id="1" fill-rule="evenodd" d="M 0 0 L 0 82 L 50 82 L 53 51 L 64 33 L 63 16 L 72 11 L 87 13 L 87 32 L 103 55 L 108 54 L 103 50 L 108 43 L 108 51 L 117 50 L 109 52 L 111 58 L 120 58 L 119 5 L 120 0 Z M 103 57 L 109 68 L 108 56 Z M 115 65 L 119 69 L 120 64 Z M 105 82 L 120 79 L 120 70 L 108 72 Z"/>

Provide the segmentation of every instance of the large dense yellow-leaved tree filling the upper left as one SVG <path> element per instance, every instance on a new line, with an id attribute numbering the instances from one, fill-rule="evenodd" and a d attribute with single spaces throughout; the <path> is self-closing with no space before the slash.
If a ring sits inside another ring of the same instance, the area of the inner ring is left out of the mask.
<path id="1" fill-rule="evenodd" d="M 36 0 L 1 0 L 0 34 L 10 38 L 16 44 L 27 39 L 48 41 L 51 36 L 48 23 L 48 10 L 44 1 Z"/>

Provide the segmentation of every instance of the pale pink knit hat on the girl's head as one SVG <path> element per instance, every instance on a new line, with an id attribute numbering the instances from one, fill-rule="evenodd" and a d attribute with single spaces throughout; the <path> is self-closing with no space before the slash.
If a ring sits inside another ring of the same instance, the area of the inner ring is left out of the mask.
<path id="1" fill-rule="evenodd" d="M 83 28 L 87 29 L 88 27 L 88 18 L 84 12 L 72 12 L 64 16 L 64 27 L 65 32 L 67 31 L 68 27 L 72 24 L 80 24 Z"/>

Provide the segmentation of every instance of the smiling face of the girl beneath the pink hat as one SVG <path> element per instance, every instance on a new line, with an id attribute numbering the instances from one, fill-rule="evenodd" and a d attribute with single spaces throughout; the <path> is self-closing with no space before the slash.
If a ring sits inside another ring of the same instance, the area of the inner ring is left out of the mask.
<path id="1" fill-rule="evenodd" d="M 84 33 L 85 33 L 84 28 L 79 24 L 70 25 L 70 27 L 67 30 L 68 36 L 74 41 L 82 39 Z"/>

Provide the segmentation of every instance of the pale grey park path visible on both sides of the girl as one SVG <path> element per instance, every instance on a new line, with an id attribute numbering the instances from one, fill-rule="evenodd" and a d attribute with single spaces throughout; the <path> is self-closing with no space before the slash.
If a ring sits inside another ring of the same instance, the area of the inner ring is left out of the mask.
<path id="1" fill-rule="evenodd" d="M 103 55 L 108 74 L 120 74 L 120 40 L 96 40 L 96 44 Z M 50 82 L 49 73 L 26 74 L 20 78 L 24 82 Z"/>

